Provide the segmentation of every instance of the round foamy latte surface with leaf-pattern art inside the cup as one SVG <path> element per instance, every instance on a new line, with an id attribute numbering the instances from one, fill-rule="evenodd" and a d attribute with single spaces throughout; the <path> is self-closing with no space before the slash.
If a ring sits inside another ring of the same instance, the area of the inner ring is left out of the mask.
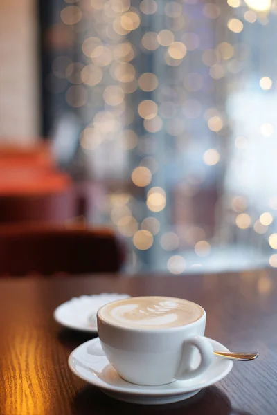
<path id="1" fill-rule="evenodd" d="M 163 329 L 184 326 L 199 320 L 202 308 L 185 299 L 171 297 L 133 297 L 102 307 L 100 317 L 120 326 Z"/>

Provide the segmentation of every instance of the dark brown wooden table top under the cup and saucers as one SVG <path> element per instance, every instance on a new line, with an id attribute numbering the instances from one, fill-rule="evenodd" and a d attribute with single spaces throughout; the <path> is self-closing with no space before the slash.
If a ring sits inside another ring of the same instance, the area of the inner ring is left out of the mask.
<path id="1" fill-rule="evenodd" d="M 195 398 L 163 406 L 120 403 L 74 376 L 69 353 L 90 336 L 61 329 L 53 311 L 101 292 L 170 295 L 207 311 L 206 335 L 231 350 L 258 350 Z M 0 279 L 0 414 L 276 415 L 277 279 L 274 270 L 224 275 Z"/>

